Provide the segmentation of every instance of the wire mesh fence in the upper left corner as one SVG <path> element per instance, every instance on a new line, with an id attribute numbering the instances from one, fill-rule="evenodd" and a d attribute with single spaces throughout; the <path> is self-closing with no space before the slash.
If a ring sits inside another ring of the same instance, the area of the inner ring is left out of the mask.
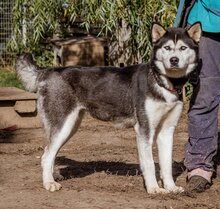
<path id="1" fill-rule="evenodd" d="M 10 66 L 14 54 L 7 50 L 7 41 L 12 35 L 12 9 L 14 0 L 0 0 L 0 66 Z"/>

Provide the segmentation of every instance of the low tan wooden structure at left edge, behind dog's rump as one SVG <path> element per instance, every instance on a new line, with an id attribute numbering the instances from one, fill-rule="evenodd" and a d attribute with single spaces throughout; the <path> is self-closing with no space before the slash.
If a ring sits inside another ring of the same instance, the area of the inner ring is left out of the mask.
<path id="1" fill-rule="evenodd" d="M 37 96 L 15 87 L 0 88 L 0 129 L 40 128 Z"/>

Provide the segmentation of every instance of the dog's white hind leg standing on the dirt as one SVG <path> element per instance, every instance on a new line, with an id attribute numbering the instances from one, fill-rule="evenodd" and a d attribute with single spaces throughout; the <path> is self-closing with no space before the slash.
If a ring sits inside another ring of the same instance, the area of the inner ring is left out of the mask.
<path id="1" fill-rule="evenodd" d="M 82 108 L 76 107 L 63 120 L 61 128 L 50 127 L 50 142 L 44 150 L 41 165 L 43 168 L 43 186 L 46 190 L 54 192 L 61 188 L 61 185 L 54 180 L 54 161 L 60 148 L 76 132 L 82 118 Z M 56 129 L 56 130 L 55 130 Z"/>

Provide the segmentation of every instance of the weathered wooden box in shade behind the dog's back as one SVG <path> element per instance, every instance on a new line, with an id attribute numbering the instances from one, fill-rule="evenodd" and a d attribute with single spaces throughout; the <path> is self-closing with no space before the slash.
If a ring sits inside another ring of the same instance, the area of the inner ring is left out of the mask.
<path id="1" fill-rule="evenodd" d="M 84 36 L 67 40 L 54 40 L 54 65 L 56 66 L 104 66 L 106 65 L 106 41 Z"/>

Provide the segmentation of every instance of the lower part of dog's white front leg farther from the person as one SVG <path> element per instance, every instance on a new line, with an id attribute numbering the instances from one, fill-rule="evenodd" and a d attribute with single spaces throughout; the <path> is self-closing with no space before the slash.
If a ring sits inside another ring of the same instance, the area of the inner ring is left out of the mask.
<path id="1" fill-rule="evenodd" d="M 150 194 L 166 193 L 166 190 L 158 186 L 155 165 L 152 154 L 152 143 L 155 130 L 146 133 L 146 130 L 137 123 L 135 125 L 140 168 L 144 177 L 147 192 Z M 149 135 L 148 135 L 149 134 Z"/>

